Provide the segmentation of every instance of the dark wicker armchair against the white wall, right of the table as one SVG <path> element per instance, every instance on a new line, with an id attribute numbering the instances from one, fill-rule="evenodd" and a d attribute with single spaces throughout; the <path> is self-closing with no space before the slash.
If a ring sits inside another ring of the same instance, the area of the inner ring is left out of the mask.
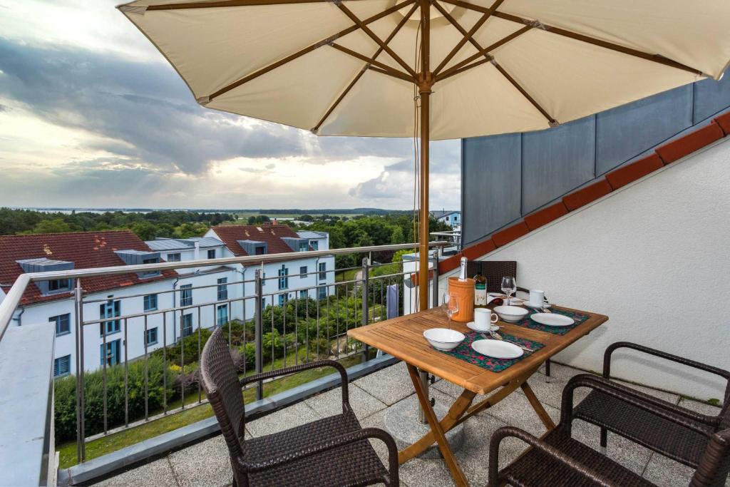
<path id="1" fill-rule="evenodd" d="M 730 428 L 730 372 L 710 365 L 664 353 L 643 345 L 617 342 L 604 353 L 603 380 L 611 377 L 611 356 L 619 348 L 631 348 L 652 356 L 710 372 L 727 381 L 724 405 L 716 416 L 685 409 L 627 386 L 611 383 L 620 396 L 610 396 L 594 389 L 575 408 L 575 418 L 601 427 L 601 446 L 607 445 L 607 430 L 650 448 L 688 467 L 697 468 L 712 433 Z M 632 402 L 624 398 L 631 397 Z M 633 402 L 648 404 L 638 407 Z"/>

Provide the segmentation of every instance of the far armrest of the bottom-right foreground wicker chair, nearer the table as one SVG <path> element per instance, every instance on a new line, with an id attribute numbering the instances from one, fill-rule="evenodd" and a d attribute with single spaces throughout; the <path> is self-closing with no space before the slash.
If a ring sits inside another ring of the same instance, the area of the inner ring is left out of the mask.
<path id="1" fill-rule="evenodd" d="M 627 404 L 639 407 L 648 413 L 672 421 L 672 423 L 680 424 L 694 432 L 708 436 L 707 430 L 698 426 L 696 423 L 703 423 L 707 426 L 717 426 L 719 418 L 715 416 L 707 416 L 694 411 L 687 410 L 676 404 L 669 404 L 655 397 L 649 396 L 642 392 L 636 391 L 630 387 L 611 382 L 605 377 L 599 377 L 592 374 L 579 374 L 571 377 L 567 385 L 563 389 L 563 397 L 561 402 L 561 423 L 570 425 L 573 419 L 573 391 L 578 387 L 588 387 L 601 391 L 603 394 L 620 399 Z"/>

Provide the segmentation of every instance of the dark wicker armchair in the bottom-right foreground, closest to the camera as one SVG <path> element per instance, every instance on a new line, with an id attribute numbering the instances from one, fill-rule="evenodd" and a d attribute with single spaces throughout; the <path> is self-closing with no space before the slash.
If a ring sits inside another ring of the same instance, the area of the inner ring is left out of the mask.
<path id="1" fill-rule="evenodd" d="M 505 483 L 515 487 L 529 486 L 653 486 L 621 464 L 571 437 L 573 391 L 577 387 L 592 388 L 593 392 L 626 402 L 658 417 L 675 421 L 671 413 L 656 410 L 653 404 L 626 394 L 614 383 L 590 374 L 576 375 L 563 391 L 561 421 L 542 439 L 521 429 L 506 426 L 492 435 L 489 450 L 489 487 Z M 652 426 L 645 426 L 650 428 Z M 661 433 L 661 432 L 657 432 Z M 499 470 L 499 445 L 507 437 L 526 442 L 530 448 L 511 464 Z M 730 429 L 707 433 L 707 445 L 699 457 L 691 479 L 691 487 L 722 487 L 730 472 Z"/>

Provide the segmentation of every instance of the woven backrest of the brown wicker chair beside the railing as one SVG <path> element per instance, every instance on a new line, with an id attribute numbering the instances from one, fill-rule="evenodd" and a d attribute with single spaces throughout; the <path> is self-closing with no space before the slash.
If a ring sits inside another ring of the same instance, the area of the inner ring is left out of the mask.
<path id="1" fill-rule="evenodd" d="M 231 456 L 242 455 L 245 410 L 236 366 L 223 339 L 223 329 L 213 331 L 200 358 L 200 380 Z"/>

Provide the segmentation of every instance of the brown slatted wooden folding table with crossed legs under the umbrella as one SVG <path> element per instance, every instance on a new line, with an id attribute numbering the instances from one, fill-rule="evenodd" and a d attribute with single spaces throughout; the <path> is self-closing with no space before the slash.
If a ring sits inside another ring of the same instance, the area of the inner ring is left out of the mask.
<path id="1" fill-rule="evenodd" d="M 570 310 L 569 308 L 558 309 Z M 578 311 L 578 310 L 570 310 Z M 579 311 L 590 316 L 574 329 L 564 335 L 551 334 L 546 331 L 538 331 L 518 326 L 505 321 L 499 321 L 500 331 L 514 335 L 515 337 L 528 338 L 545 345 L 530 356 L 523 358 L 516 364 L 504 369 L 502 372 L 491 372 L 490 370 L 469 364 L 459 358 L 449 356 L 431 348 L 429 342 L 423 337 L 423 331 L 429 328 L 446 328 L 448 320 L 445 312 L 439 308 L 413 313 L 411 315 L 393 318 L 392 320 L 381 321 L 368 326 L 362 326 L 347 331 L 347 335 L 356 340 L 379 348 L 385 353 L 390 353 L 400 358 L 407 364 L 415 393 L 418 396 L 426 419 L 429 421 L 431 432 L 401 450 L 398 455 L 400 464 L 412 459 L 429 448 L 434 441 L 437 442 L 439 450 L 446 461 L 447 467 L 458 486 L 466 486 L 466 477 L 456 461 L 456 457 L 448 444 L 445 434 L 454 426 L 466 421 L 472 415 L 493 406 L 508 395 L 512 394 L 518 387 L 522 388 L 527 396 L 535 413 L 539 416 L 545 427 L 553 429 L 555 423 L 548 415 L 545 408 L 537 400 L 534 392 L 527 383 L 527 379 L 537 372 L 539 366 L 560 350 L 588 334 L 593 329 L 602 325 L 608 320 L 607 316 L 596 313 Z M 466 334 L 469 330 L 465 323 L 451 322 L 451 328 Z M 437 375 L 464 388 L 461 396 L 452 404 L 447 415 L 439 422 L 429 398 L 423 389 L 418 369 L 429 374 Z M 477 394 L 491 394 L 481 402 L 472 405 Z"/>

